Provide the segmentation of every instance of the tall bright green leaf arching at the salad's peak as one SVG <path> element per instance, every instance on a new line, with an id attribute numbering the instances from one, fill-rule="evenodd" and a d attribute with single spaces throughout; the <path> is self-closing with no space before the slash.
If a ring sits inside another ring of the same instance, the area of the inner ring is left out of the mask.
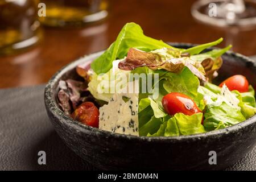
<path id="1" fill-rule="evenodd" d="M 133 47 L 142 51 L 152 51 L 159 48 L 172 48 L 162 40 L 152 39 L 143 34 L 142 28 L 136 23 L 126 23 L 117 36 L 117 40 L 91 64 L 93 71 L 97 74 L 106 73 L 112 67 L 112 61 L 122 59 L 128 50 Z"/>

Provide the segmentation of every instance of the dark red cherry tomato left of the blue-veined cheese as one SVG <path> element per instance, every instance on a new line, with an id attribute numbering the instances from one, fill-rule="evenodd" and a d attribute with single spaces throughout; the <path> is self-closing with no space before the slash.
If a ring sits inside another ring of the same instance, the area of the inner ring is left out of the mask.
<path id="1" fill-rule="evenodd" d="M 98 127 L 100 112 L 93 102 L 84 102 L 72 113 L 72 118 L 92 127 Z"/>

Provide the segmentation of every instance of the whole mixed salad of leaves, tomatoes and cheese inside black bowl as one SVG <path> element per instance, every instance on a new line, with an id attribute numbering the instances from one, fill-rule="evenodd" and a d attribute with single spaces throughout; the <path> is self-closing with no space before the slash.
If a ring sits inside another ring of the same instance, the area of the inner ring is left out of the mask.
<path id="1" fill-rule="evenodd" d="M 76 67 L 81 80 L 61 80 L 57 100 L 77 121 L 113 133 L 171 137 L 223 129 L 256 113 L 253 86 L 234 75 L 212 84 L 222 38 L 181 49 L 127 23 L 92 63 Z"/>

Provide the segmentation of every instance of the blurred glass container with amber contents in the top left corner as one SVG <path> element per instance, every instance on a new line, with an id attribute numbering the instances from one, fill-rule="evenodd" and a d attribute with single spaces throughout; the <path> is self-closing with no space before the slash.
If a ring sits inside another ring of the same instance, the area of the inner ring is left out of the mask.
<path id="1" fill-rule="evenodd" d="M 38 0 L 0 0 L 0 55 L 18 52 L 42 37 Z"/>

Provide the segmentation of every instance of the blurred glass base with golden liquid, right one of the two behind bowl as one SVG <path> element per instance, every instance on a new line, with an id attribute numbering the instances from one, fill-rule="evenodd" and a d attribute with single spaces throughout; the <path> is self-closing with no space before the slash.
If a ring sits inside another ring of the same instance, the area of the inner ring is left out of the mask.
<path id="1" fill-rule="evenodd" d="M 108 16 L 106 0 L 41 0 L 46 16 L 40 21 L 52 27 L 82 26 Z"/>

